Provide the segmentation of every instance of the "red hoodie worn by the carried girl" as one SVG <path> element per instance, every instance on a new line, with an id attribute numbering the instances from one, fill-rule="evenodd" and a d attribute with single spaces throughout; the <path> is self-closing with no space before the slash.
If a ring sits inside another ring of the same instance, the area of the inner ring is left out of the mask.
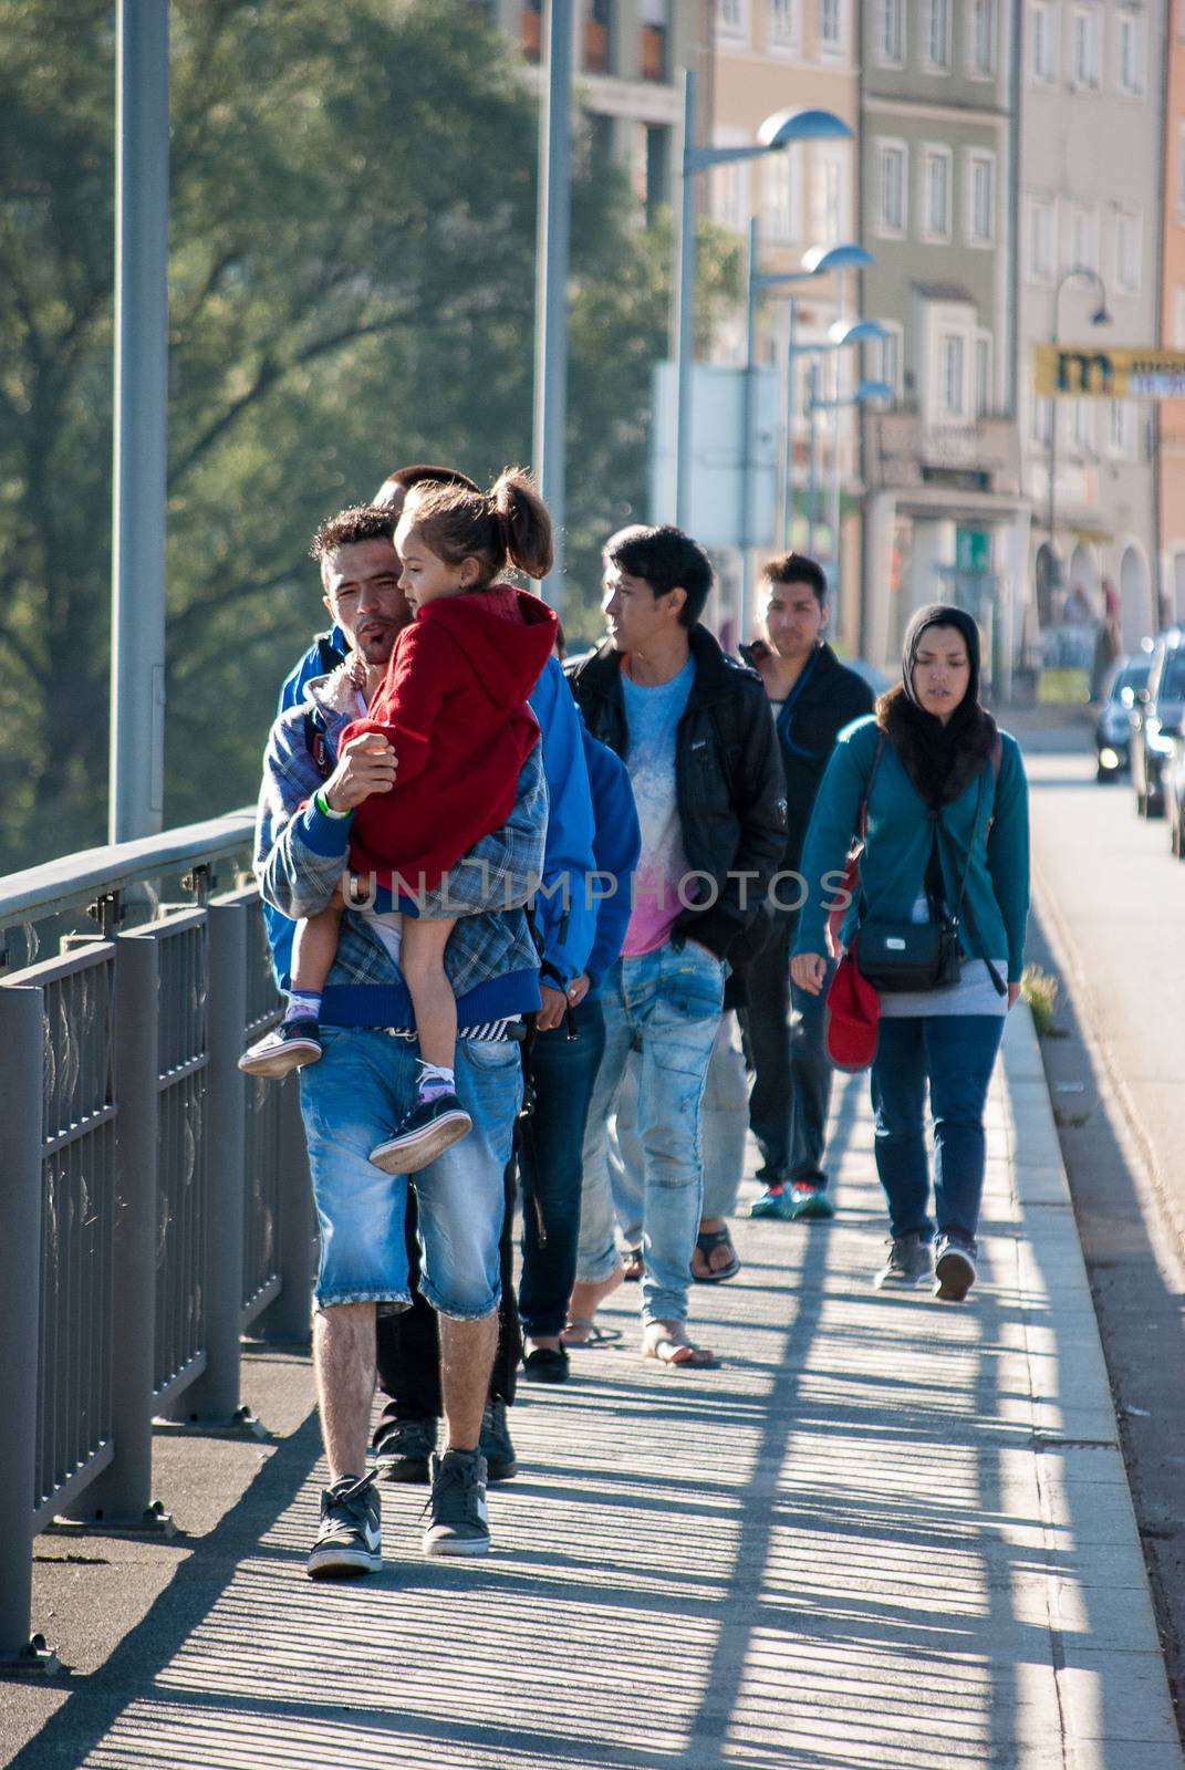
<path id="1" fill-rule="evenodd" d="M 420 609 L 395 641 L 367 717 L 338 743 L 340 752 L 351 738 L 377 731 L 397 758 L 391 791 L 372 793 L 354 811 L 354 871 L 399 873 L 407 896 L 434 890 L 507 821 L 519 770 L 538 740 L 526 697 L 554 639 L 547 604 L 510 584 Z"/>

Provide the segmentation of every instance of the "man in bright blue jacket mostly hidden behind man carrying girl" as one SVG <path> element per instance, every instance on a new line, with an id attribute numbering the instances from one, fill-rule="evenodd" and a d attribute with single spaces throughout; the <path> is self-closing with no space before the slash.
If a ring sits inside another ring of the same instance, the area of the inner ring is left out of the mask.
<path id="1" fill-rule="evenodd" d="M 413 485 L 423 480 L 466 485 L 476 490 L 473 480 L 453 467 L 418 464 L 397 467 L 388 474 L 376 494 L 376 506 L 388 510 L 391 519 L 399 520 L 404 497 Z M 393 609 L 393 620 L 404 627 L 411 618 L 411 609 L 402 600 L 402 611 Z M 349 641 L 340 627 L 335 625 L 319 634 L 285 678 L 280 708 L 298 704 L 306 694 L 308 683 L 342 662 L 347 650 Z M 585 970 L 593 942 L 593 908 L 586 903 L 583 890 L 565 887 L 565 881 L 583 881 L 592 871 L 593 814 L 579 717 L 556 658 L 547 662 L 530 704 L 542 733 L 542 763 L 549 798 L 544 887 L 533 904 L 537 938 L 542 942 L 538 984 L 542 1007 L 537 1030 L 547 1032 L 560 1027 L 569 1005 L 569 986 Z M 283 926 L 282 919 L 269 915 L 269 938 L 276 975 L 283 984 L 292 940 L 290 924 Z M 507 1218 L 510 1218 L 510 1209 Z M 420 1255 L 414 1191 L 409 1193 L 407 1204 L 407 1253 L 414 1285 Z M 491 1481 L 507 1480 L 515 1473 L 507 1405 L 514 1402 L 521 1335 L 512 1283 L 510 1221 L 507 1221 L 503 1235 L 501 1276 L 501 1335 L 480 1441 Z M 413 1289 L 409 1310 L 402 1315 L 379 1317 L 377 1363 L 379 1388 L 386 1397 L 374 1439 L 379 1473 L 395 1481 L 427 1481 L 429 1458 L 436 1448 L 438 1420 L 441 1418 L 439 1342 L 436 1313 L 416 1289 Z"/>

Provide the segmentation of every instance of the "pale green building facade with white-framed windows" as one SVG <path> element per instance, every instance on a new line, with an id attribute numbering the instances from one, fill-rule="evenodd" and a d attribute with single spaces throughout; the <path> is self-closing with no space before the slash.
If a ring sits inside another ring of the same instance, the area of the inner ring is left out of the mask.
<path id="1" fill-rule="evenodd" d="M 864 0 L 863 308 L 887 326 L 866 372 L 864 655 L 891 666 L 909 616 L 955 600 L 1008 678 L 1029 510 L 1013 400 L 1017 18 L 1010 0 Z M 1008 687 L 1006 681 L 1001 687 Z"/>

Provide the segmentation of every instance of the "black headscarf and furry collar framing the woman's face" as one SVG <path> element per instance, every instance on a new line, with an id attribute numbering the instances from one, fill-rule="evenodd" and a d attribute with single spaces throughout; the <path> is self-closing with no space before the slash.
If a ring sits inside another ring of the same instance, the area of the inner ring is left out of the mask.
<path id="1" fill-rule="evenodd" d="M 967 692 L 942 724 L 926 713 L 914 692 L 914 666 L 921 635 L 930 627 L 955 627 L 967 646 Z M 932 602 L 918 609 L 902 646 L 902 681 L 877 704 L 877 719 L 896 749 L 909 779 L 932 811 L 958 798 L 995 747 L 995 720 L 980 704 L 980 628 L 964 609 Z"/>

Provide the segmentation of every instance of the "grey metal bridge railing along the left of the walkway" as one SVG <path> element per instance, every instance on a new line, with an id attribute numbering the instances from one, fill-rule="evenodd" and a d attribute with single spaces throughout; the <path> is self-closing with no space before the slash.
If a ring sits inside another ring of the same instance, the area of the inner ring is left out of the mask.
<path id="1" fill-rule="evenodd" d="M 58 947 L 0 981 L 0 1669 L 46 1664 L 35 1533 L 159 1529 L 154 1420 L 232 1425 L 244 1329 L 308 1331 L 296 1081 L 237 1069 L 280 1014 L 250 839 L 234 812 L 0 880 L 4 950 Z"/>

